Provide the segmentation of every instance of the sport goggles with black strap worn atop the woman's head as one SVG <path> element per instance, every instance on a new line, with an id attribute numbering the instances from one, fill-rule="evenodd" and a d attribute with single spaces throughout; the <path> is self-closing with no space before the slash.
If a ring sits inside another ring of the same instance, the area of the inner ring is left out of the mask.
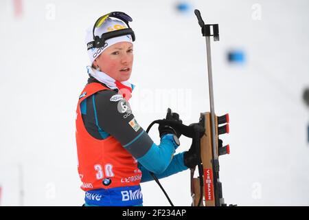
<path id="1" fill-rule="evenodd" d="M 106 19 L 110 17 L 124 21 L 124 23 L 128 25 L 128 28 L 124 28 L 121 30 L 113 30 L 111 32 L 104 33 L 101 36 L 95 36 L 94 35 L 95 28 L 100 28 L 104 24 Z M 111 13 L 104 14 L 103 16 L 101 16 L 97 21 L 95 21 L 95 24 L 93 25 L 93 30 L 92 30 L 93 41 L 87 43 L 87 47 L 88 47 L 87 50 L 90 50 L 92 48 L 103 47 L 106 40 L 117 37 L 117 36 L 130 35 L 132 36 L 132 41 L 135 41 L 135 34 L 133 30 L 130 28 L 130 25 L 128 24 L 130 21 L 133 21 L 133 19 L 124 12 L 111 12 Z"/>

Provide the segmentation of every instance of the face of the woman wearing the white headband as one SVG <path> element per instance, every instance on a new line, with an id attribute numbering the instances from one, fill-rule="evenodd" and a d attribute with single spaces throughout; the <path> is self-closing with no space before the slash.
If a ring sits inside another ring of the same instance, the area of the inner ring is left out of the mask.
<path id="1" fill-rule="evenodd" d="M 119 82 L 128 80 L 133 66 L 133 44 L 119 42 L 111 45 L 93 61 L 93 65 Z"/>

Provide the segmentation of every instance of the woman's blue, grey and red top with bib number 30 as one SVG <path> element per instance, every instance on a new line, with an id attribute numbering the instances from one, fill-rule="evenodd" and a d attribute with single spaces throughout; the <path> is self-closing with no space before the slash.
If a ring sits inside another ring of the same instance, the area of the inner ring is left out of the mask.
<path id="1" fill-rule="evenodd" d="M 76 109 L 78 173 L 85 203 L 137 206 L 140 182 L 187 169 L 172 135 L 155 144 L 139 126 L 130 105 L 117 91 L 94 78 L 84 87 Z"/>

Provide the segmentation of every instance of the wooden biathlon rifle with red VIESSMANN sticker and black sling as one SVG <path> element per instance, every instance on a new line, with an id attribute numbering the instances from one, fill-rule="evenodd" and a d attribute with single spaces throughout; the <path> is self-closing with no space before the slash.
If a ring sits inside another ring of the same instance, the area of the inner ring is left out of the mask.
<path id="1" fill-rule="evenodd" d="M 198 123 L 191 124 L 190 126 L 178 124 L 177 122 L 169 120 L 156 120 L 148 126 L 146 132 L 148 133 L 151 126 L 155 123 L 167 124 L 170 126 L 178 126 L 183 135 L 191 137 L 193 140 L 192 143 L 195 143 L 195 151 L 201 155 L 201 157 L 198 157 L 197 165 L 199 176 L 194 178 L 196 167 L 190 169 L 192 206 L 227 206 L 222 197 L 218 157 L 220 155 L 229 154 L 229 144 L 222 146 L 222 140 L 218 138 L 218 135 L 229 133 L 229 114 L 217 116 L 214 112 L 214 89 L 212 83 L 210 48 L 210 36 L 214 36 L 214 41 L 219 41 L 219 27 L 218 24 L 205 25 L 199 10 L 194 10 L 194 13 L 198 19 L 198 24 L 201 26 L 202 34 L 206 39 L 210 112 L 201 113 Z M 168 109 L 168 113 L 172 115 L 170 109 Z M 170 201 L 170 198 L 159 183 L 157 177 L 155 177 L 153 173 L 150 174 L 155 181 L 157 181 L 157 184 L 159 184 L 161 190 L 163 190 L 168 201 Z M 205 204 L 203 201 L 205 201 Z M 172 201 L 170 201 L 170 204 L 174 206 Z"/>

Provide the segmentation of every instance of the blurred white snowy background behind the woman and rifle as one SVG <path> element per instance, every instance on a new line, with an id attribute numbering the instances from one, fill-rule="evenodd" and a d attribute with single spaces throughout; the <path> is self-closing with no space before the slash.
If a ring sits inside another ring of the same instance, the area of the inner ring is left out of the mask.
<path id="1" fill-rule="evenodd" d="M 0 1 L 0 205 L 81 206 L 75 111 L 89 64 L 84 33 L 102 14 L 133 17 L 131 107 L 144 129 L 171 107 L 185 124 L 209 111 L 205 38 L 193 10 L 219 23 L 211 41 L 215 111 L 229 113 L 220 157 L 225 202 L 309 205 L 309 2 L 306 0 Z M 19 5 L 21 3 L 21 5 Z M 227 53 L 245 61 L 231 64 Z M 163 96 L 163 94 L 166 94 Z M 150 136 L 157 144 L 157 126 Z M 181 137 L 177 152 L 190 140 Z M 176 206 L 190 206 L 189 170 L 161 180 Z M 144 206 L 168 206 L 155 181 Z"/>

